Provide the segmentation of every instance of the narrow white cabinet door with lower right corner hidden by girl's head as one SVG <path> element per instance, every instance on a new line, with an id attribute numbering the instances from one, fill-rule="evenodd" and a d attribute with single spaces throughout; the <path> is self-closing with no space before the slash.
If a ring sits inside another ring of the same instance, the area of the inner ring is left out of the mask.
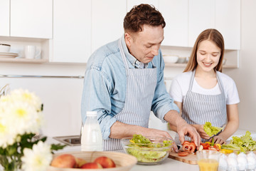
<path id="1" fill-rule="evenodd" d="M 215 1 L 193 0 L 188 2 L 188 46 L 193 47 L 198 35 L 215 26 Z"/>

